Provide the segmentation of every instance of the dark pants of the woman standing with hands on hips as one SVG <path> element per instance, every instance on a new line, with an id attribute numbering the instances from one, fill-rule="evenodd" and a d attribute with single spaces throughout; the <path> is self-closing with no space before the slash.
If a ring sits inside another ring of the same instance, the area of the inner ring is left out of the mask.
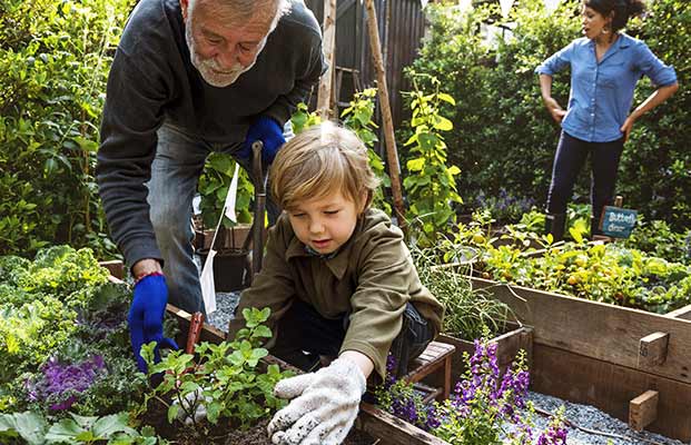
<path id="1" fill-rule="evenodd" d="M 623 149 L 623 138 L 611 142 L 586 142 L 562 131 L 547 195 L 547 212 L 559 215 L 566 211 L 576 176 L 590 155 L 592 164 L 590 200 L 593 218 L 599 220 L 602 208 L 612 201 Z"/>

